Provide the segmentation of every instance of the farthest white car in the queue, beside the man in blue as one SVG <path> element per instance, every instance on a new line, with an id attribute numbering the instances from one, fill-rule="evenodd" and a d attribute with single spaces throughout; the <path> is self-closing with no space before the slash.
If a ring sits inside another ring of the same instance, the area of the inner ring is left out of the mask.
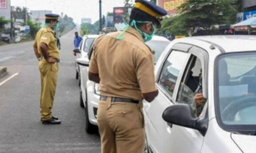
<path id="1" fill-rule="evenodd" d="M 99 35 L 85 35 L 83 40 L 80 42 L 79 48 L 74 49 L 73 51 L 76 52 L 76 59 L 81 57 L 87 57 L 87 52 L 93 42 L 93 40 L 98 37 Z M 78 66 L 77 62 L 75 62 L 76 66 L 76 79 L 79 81 L 79 86 L 81 84 L 79 71 L 80 67 Z"/>

